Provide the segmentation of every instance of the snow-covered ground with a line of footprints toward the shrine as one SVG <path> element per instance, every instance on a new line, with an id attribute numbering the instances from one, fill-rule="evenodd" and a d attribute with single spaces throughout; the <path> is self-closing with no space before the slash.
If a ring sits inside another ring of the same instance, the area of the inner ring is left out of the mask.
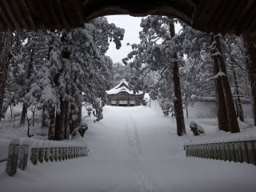
<path id="1" fill-rule="evenodd" d="M 190 118 L 186 121 L 187 135 L 178 137 L 175 119 L 164 117 L 156 102 L 152 102 L 151 108 L 105 106 L 102 121 L 93 120 L 86 118 L 89 157 L 38 166 L 29 164 L 12 178 L 4 172 L 5 163 L 1 163 L 1 191 L 256 190 L 256 166 L 186 158 L 183 150 L 184 142 L 255 134 L 255 128 L 247 124 L 240 124 L 241 134 L 228 134 L 218 131 L 214 118 Z M 192 120 L 205 129 L 206 136 L 192 135 L 188 126 Z"/>

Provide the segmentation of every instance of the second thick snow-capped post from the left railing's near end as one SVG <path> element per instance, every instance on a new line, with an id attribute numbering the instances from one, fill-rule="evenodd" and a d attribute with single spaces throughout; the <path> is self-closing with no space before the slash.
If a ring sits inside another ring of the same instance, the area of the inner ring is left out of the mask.
<path id="1" fill-rule="evenodd" d="M 18 168 L 25 170 L 29 158 L 30 142 L 26 139 L 21 142 L 18 153 Z"/>

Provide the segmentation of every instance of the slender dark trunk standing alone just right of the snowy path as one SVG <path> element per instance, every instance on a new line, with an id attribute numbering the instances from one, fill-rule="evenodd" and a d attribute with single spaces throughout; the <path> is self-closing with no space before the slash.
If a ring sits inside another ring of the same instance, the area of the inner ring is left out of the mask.
<path id="1" fill-rule="evenodd" d="M 173 38 L 175 36 L 174 30 L 174 21 L 170 22 L 170 36 Z M 184 114 L 182 107 L 182 90 L 181 90 L 181 82 L 179 78 L 178 71 L 178 56 L 177 53 L 174 54 L 174 58 L 176 61 L 173 63 L 173 81 L 174 81 L 174 113 L 176 117 L 176 125 L 177 125 L 177 134 L 178 136 L 182 136 L 186 134 L 186 126 L 184 122 Z"/>

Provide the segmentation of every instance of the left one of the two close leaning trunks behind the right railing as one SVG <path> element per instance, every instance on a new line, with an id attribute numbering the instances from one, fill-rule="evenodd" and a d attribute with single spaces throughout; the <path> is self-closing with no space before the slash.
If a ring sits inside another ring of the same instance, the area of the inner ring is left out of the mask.
<path id="1" fill-rule="evenodd" d="M 212 42 L 214 42 L 214 36 L 211 36 Z M 211 54 L 214 54 L 216 50 L 211 50 Z M 217 56 L 212 56 L 213 59 L 213 72 L 214 75 L 218 74 L 218 58 Z M 215 80 L 215 91 L 217 98 L 217 116 L 218 116 L 218 129 L 228 132 L 230 130 L 228 116 L 226 111 L 226 102 L 222 88 L 221 78 L 216 78 Z"/>

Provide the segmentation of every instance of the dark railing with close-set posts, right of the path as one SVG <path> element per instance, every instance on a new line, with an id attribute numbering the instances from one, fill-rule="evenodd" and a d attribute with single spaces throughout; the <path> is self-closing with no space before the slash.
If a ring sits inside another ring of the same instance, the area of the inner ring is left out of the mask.
<path id="1" fill-rule="evenodd" d="M 247 162 L 256 165 L 256 140 L 185 144 L 186 157 Z"/>

